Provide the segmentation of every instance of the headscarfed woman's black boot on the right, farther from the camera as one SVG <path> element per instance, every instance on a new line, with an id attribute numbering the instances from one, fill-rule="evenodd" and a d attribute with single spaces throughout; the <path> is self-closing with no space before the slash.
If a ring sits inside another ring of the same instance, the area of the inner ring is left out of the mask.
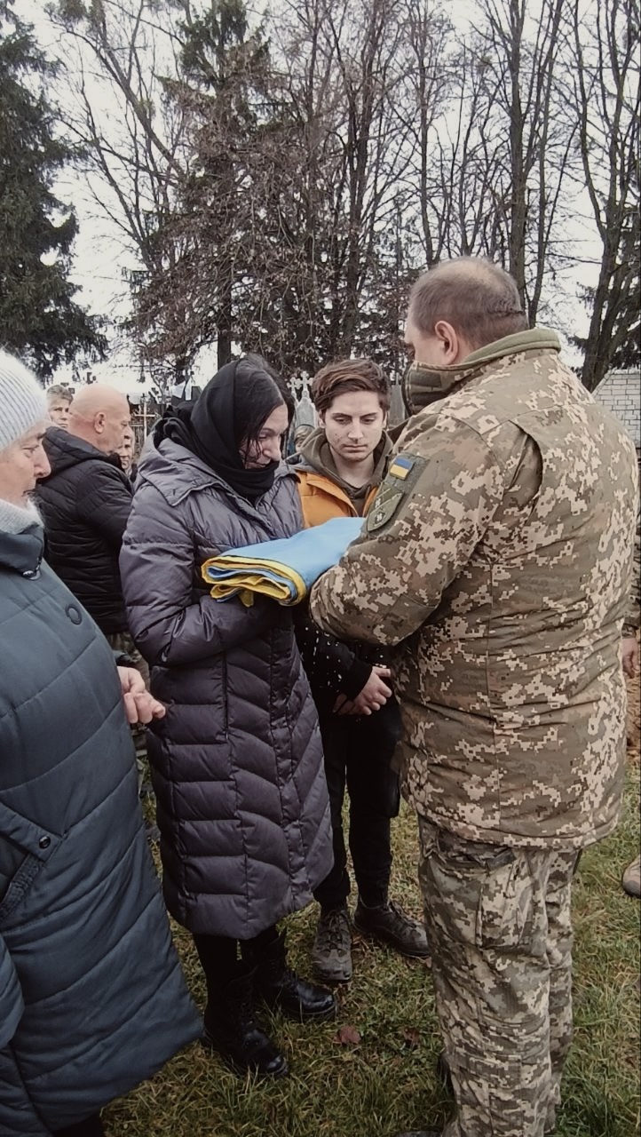
<path id="1" fill-rule="evenodd" d="M 331 1019 L 336 1012 L 332 991 L 307 984 L 288 968 L 285 937 L 281 932 L 267 946 L 260 946 L 253 957 L 256 994 L 268 1006 L 278 1007 L 290 1019 Z"/>

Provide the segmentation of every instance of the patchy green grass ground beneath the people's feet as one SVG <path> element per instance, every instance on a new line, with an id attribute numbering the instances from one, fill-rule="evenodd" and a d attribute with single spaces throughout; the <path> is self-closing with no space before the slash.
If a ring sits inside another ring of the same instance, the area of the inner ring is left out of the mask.
<path id="1" fill-rule="evenodd" d="M 631 691 L 633 705 L 639 684 Z M 586 850 L 575 893 L 575 1043 L 564 1081 L 558 1137 L 633 1137 L 639 1119 L 639 903 L 621 873 L 639 847 L 638 720 L 628 749 L 625 810 L 616 832 Z M 416 825 L 394 823 L 393 895 L 419 914 Z M 290 918 L 291 957 L 309 974 L 314 906 Z M 200 1006 L 203 984 L 191 940 L 175 928 Z M 274 1084 L 235 1078 L 199 1045 L 105 1111 L 111 1137 L 391 1137 L 439 1124 L 450 1103 L 434 1076 L 440 1049 L 430 970 L 356 939 L 355 978 L 339 991 L 335 1022 L 264 1021 L 291 1076 Z M 353 1028 L 347 1031 L 344 1028 Z M 515 1135 L 517 1137 L 517 1135 Z"/>

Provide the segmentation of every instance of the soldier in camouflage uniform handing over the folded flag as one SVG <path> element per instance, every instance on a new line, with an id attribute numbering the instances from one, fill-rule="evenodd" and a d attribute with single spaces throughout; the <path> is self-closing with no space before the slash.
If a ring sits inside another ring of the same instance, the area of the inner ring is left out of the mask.
<path id="1" fill-rule="evenodd" d="M 635 454 L 489 262 L 422 276 L 406 339 L 414 417 L 310 608 L 396 646 L 444 1135 L 542 1137 L 572 1034 L 572 874 L 622 797 Z"/>

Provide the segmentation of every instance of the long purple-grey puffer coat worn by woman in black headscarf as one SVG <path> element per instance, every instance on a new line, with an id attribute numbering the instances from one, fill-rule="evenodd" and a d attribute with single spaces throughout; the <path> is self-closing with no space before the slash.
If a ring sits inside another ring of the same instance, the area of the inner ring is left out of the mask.
<path id="1" fill-rule="evenodd" d="M 149 733 L 164 891 L 192 932 L 250 939 L 332 865 L 316 709 L 292 615 L 214 600 L 207 557 L 302 525 L 281 466 L 256 505 L 164 439 L 140 470 L 120 555 L 130 629 L 167 705 Z"/>

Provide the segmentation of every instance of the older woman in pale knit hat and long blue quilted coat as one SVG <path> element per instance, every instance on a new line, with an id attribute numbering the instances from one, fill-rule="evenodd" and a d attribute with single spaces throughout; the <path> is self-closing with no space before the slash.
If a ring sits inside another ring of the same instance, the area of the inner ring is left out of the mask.
<path id="1" fill-rule="evenodd" d="M 102 1137 L 102 1106 L 201 1023 L 128 728 L 165 708 L 42 561 L 47 418 L 35 377 L 0 351 L 0 1134 Z"/>

